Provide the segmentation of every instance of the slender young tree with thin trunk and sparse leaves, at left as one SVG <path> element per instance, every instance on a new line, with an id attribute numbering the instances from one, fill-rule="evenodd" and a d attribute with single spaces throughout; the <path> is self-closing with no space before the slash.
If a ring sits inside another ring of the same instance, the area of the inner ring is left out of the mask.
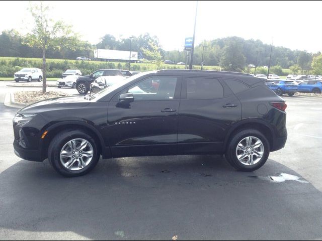
<path id="1" fill-rule="evenodd" d="M 49 7 L 42 1 L 39 4 L 30 3 L 29 11 L 33 17 L 34 28 L 26 35 L 24 43 L 42 50 L 42 92 L 46 92 L 46 50 L 61 49 L 63 46 L 72 48 L 78 38 L 72 33 L 70 25 L 61 21 L 54 22 L 49 18 Z"/>

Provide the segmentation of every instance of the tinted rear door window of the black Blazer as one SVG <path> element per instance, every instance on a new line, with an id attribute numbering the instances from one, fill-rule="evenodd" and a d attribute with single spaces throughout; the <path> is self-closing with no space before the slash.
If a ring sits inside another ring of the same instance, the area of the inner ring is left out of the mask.
<path id="1" fill-rule="evenodd" d="M 215 99 L 223 97 L 223 87 L 218 79 L 187 78 L 187 99 Z"/>

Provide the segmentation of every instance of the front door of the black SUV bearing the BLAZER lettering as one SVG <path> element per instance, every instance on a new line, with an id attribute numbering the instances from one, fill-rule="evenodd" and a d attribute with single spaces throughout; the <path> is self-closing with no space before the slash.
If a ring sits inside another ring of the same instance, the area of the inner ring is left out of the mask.
<path id="1" fill-rule="evenodd" d="M 113 157 L 177 154 L 179 96 L 174 93 L 181 80 L 176 78 L 169 91 L 166 80 L 153 78 L 159 81 L 157 91 L 149 90 L 155 84 L 151 81 L 151 86 L 143 83 L 130 88 L 136 92 L 134 102 L 109 103 L 108 138 Z M 162 100 L 160 96 L 166 97 Z"/>

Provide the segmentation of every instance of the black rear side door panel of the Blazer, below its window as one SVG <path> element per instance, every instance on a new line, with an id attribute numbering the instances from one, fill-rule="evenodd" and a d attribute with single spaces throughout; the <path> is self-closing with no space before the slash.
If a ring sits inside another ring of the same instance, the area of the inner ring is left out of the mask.
<path id="1" fill-rule="evenodd" d="M 183 86 L 186 84 L 184 79 Z M 182 91 L 184 89 L 183 87 Z M 213 99 L 181 99 L 178 154 L 222 152 L 230 125 L 241 119 L 239 100 L 230 90 L 223 92 L 230 94 L 223 94 L 228 96 Z"/>

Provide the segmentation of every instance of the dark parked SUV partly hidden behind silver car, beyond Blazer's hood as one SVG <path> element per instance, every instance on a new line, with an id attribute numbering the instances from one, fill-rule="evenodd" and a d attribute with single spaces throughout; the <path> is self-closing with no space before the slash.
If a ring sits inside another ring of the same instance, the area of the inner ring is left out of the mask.
<path id="1" fill-rule="evenodd" d="M 95 71 L 90 75 L 80 76 L 76 80 L 76 88 L 78 93 L 87 94 L 90 90 L 90 85 L 94 80 L 100 76 L 125 76 L 122 74 L 121 70 L 118 69 L 100 69 Z"/>

